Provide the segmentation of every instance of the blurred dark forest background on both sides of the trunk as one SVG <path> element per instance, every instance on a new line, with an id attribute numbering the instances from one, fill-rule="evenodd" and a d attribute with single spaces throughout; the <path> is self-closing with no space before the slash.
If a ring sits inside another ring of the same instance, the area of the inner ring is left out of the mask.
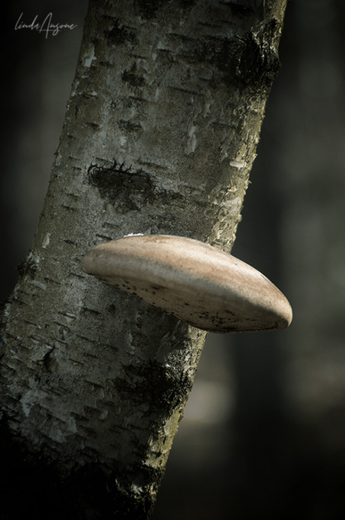
<path id="1" fill-rule="evenodd" d="M 42 209 L 86 9 L 3 8 L 1 300 Z M 15 31 L 21 12 L 78 27 Z M 152 520 L 345 518 L 344 26 L 344 0 L 290 1 L 233 248 L 281 288 L 294 320 L 209 335 Z"/>

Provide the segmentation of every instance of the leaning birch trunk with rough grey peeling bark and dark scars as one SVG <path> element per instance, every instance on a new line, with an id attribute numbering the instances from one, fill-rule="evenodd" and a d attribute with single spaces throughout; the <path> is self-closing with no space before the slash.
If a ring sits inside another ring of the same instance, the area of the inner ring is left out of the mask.
<path id="1" fill-rule="evenodd" d="M 3 310 L 1 518 L 148 517 L 205 333 L 80 259 L 131 233 L 231 250 L 284 10 L 90 1 L 46 202 Z"/>

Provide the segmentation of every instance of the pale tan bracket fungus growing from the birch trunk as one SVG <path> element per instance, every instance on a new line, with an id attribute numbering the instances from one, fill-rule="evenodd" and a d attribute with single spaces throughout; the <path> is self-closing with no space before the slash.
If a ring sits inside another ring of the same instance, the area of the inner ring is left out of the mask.
<path id="1" fill-rule="evenodd" d="M 283 293 L 247 263 L 212 245 L 172 235 L 132 235 L 97 245 L 82 270 L 211 332 L 288 327 Z"/>

